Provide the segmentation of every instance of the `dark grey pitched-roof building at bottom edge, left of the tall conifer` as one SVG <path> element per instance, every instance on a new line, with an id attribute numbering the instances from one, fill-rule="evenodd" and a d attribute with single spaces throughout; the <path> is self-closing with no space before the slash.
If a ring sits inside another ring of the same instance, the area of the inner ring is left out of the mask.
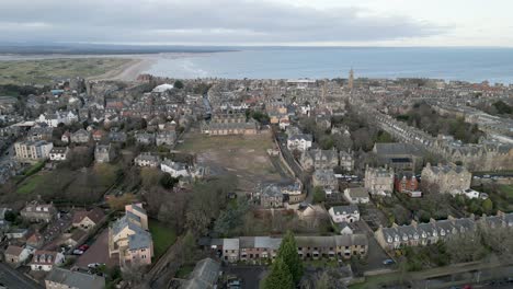
<path id="1" fill-rule="evenodd" d="M 216 288 L 219 277 L 220 264 L 212 258 L 204 258 L 196 263 L 189 280 L 183 282 L 181 289 Z"/>

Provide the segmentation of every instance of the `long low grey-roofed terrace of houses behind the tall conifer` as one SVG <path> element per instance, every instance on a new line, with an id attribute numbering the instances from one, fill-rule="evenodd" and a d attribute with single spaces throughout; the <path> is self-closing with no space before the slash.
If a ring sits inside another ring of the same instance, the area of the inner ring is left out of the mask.
<path id="1" fill-rule="evenodd" d="M 297 253 L 303 259 L 350 258 L 365 256 L 368 240 L 365 234 L 295 236 Z M 240 236 L 232 239 L 210 239 L 202 245 L 217 251 L 225 262 L 274 259 L 282 238 Z"/>

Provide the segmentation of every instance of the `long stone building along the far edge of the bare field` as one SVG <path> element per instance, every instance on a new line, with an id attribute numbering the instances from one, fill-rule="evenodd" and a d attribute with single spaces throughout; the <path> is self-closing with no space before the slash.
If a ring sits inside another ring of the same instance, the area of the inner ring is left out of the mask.
<path id="1" fill-rule="evenodd" d="M 203 122 L 201 129 L 209 136 L 256 135 L 259 124 L 252 118 L 247 120 L 244 114 L 216 114 L 210 122 Z"/>

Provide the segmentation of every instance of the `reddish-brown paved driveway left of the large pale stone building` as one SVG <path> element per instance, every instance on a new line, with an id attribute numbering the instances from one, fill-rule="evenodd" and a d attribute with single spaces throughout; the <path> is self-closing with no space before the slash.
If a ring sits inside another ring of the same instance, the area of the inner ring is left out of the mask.
<path id="1" fill-rule="evenodd" d="M 107 267 L 118 265 L 117 255 L 109 256 L 109 228 L 104 229 L 83 255 L 81 255 L 75 266 L 88 268 L 88 264 L 100 263 Z"/>

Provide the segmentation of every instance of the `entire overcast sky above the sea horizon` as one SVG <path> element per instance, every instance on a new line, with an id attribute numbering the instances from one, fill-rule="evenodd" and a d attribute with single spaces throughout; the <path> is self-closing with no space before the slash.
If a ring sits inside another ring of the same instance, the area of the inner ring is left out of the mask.
<path id="1" fill-rule="evenodd" d="M 0 42 L 513 47 L 512 0 L 0 0 Z"/>

